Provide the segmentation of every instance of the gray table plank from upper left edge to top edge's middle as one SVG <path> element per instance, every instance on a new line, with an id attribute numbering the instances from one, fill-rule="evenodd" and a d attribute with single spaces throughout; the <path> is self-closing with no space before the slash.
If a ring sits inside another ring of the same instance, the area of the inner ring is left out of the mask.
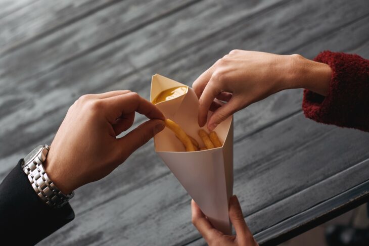
<path id="1" fill-rule="evenodd" d="M 163 18 L 196 2 L 176 0 L 164 4 L 163 0 L 158 0 L 147 4 L 147 1 L 130 0 L 129 3 L 122 2 L 110 6 L 96 15 L 86 17 L 53 35 L 3 56 L 0 59 L 0 67 L 5 69 L 0 84 L 10 79 L 15 83 L 26 83 L 34 77 L 106 45 L 106 42 L 112 42 L 120 35 L 126 35 L 155 19 Z M 130 8 L 127 8 L 126 4 L 130 4 Z M 154 6 L 158 5 L 163 5 L 163 8 L 152 11 Z M 14 70 L 15 68 L 17 69 Z"/>

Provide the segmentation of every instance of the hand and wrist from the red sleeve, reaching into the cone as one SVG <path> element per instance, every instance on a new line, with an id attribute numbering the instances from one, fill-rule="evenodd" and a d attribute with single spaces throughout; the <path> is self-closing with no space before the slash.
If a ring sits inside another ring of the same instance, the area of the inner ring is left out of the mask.
<path id="1" fill-rule="evenodd" d="M 331 73 L 329 65 L 300 55 L 231 51 L 193 83 L 199 125 L 204 126 L 208 111 L 214 111 L 207 123 L 212 131 L 235 112 L 284 89 L 307 88 L 326 95 Z"/>

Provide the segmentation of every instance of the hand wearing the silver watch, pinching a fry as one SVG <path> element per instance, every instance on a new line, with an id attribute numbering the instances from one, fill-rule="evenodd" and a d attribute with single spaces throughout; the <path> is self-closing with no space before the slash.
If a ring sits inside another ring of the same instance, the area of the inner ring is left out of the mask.
<path id="1" fill-rule="evenodd" d="M 125 136 L 138 112 L 150 120 Z M 130 154 L 164 129 L 164 115 L 129 90 L 81 96 L 68 110 L 44 163 L 64 194 L 111 173 Z"/>

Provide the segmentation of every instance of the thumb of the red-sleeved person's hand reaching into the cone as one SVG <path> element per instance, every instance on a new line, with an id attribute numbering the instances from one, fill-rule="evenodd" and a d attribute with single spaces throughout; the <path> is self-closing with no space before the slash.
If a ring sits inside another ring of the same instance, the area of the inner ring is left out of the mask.
<path id="1" fill-rule="evenodd" d="M 237 112 L 242 106 L 239 100 L 234 97 L 228 103 L 224 104 L 220 108 L 214 111 L 210 116 L 207 128 L 209 131 L 214 130 L 214 128 L 219 125 L 222 121 L 226 120 L 229 116 Z"/>

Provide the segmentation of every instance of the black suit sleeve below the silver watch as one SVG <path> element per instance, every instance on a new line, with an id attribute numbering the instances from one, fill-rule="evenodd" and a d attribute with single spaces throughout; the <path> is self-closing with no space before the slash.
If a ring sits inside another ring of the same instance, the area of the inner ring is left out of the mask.
<path id="1" fill-rule="evenodd" d="M 0 235 L 12 245 L 34 245 L 74 219 L 69 204 L 50 208 L 38 198 L 21 161 L 0 184 Z M 16 235 L 16 236 L 15 236 Z"/>

